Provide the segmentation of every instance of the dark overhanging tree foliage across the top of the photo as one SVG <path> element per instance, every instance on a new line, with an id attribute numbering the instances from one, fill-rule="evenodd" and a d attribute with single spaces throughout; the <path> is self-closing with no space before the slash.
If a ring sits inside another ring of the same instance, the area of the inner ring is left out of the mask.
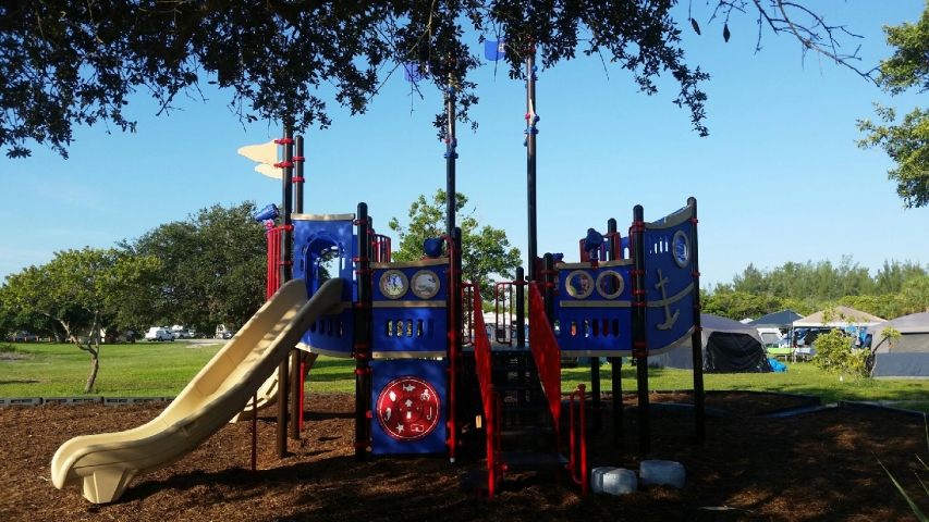
<path id="1" fill-rule="evenodd" d="M 24 158 L 38 142 L 68 154 L 74 125 L 136 129 L 127 107 L 143 92 L 159 114 L 179 98 L 203 99 L 200 86 L 229 92 L 243 121 L 272 120 L 303 132 L 330 124 L 327 102 L 352 114 L 366 111 L 402 63 L 430 72 L 427 84 L 459 90 L 457 117 L 468 122 L 477 103 L 469 72 L 480 64 L 474 47 L 485 37 L 505 39 L 510 74 L 521 76 L 528 52 L 551 67 L 578 53 L 615 62 L 634 74 L 640 90 L 658 91 L 667 74 L 679 89 L 673 102 L 689 111 L 707 135 L 701 83 L 709 75 L 688 65 L 681 34 L 700 34 L 730 18 L 756 17 L 747 32 L 787 33 L 843 61 L 821 16 L 784 0 L 711 0 L 672 12 L 676 0 L 525 2 L 522 0 L 142 0 L 78 2 L 13 0 L 0 3 L 0 146 Z M 699 12 L 694 12 L 694 10 Z M 675 14 L 676 13 L 676 14 Z M 675 18 L 677 16 L 677 18 Z M 799 21 L 803 18 L 803 22 Z M 854 35 L 853 35 L 854 36 Z M 478 40 L 478 41 L 474 41 Z M 843 62 L 846 63 L 847 62 Z M 331 99 L 327 89 L 332 86 Z M 443 116 L 436 120 L 439 134 Z M 112 126 L 112 127 L 111 127 Z"/>

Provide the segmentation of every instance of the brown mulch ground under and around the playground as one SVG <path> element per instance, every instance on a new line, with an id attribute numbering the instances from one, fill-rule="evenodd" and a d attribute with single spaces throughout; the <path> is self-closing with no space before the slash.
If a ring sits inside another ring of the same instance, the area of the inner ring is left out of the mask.
<path id="1" fill-rule="evenodd" d="M 687 395 L 652 394 L 656 402 Z M 693 442 L 692 417 L 651 412 L 647 458 L 684 464 L 683 489 L 651 486 L 631 495 L 580 495 L 566 477 L 509 474 L 494 499 L 462 492 L 456 474 L 479 461 L 441 457 L 354 457 L 354 399 L 308 397 L 306 425 L 292 456 L 274 451 L 273 419 L 258 421 L 258 471 L 250 472 L 250 423 L 230 424 L 163 470 L 136 477 L 115 504 L 95 506 L 76 487 L 56 489 L 49 462 L 71 437 L 138 426 L 163 403 L 0 409 L 0 520 L 915 520 L 881 468 L 927 509 L 914 471 L 927 460 L 922 421 L 884 411 L 831 409 L 766 418 L 796 406 L 778 395 L 731 393 L 707 406 L 732 413 L 707 419 L 707 442 Z M 638 470 L 637 413 L 624 398 L 622 443 L 611 408 L 589 439 L 590 468 Z M 609 406 L 609 403 L 606 403 Z M 477 456 L 481 448 L 470 451 Z M 462 461 L 464 460 L 464 461 Z"/>

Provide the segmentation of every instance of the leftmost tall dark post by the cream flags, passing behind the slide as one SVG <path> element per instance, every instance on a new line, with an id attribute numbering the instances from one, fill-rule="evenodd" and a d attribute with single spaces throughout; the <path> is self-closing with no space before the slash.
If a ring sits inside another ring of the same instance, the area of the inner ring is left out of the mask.
<path id="1" fill-rule="evenodd" d="M 290 125 L 284 125 L 283 158 L 283 195 L 281 197 L 283 209 L 283 231 L 281 232 L 281 285 L 291 281 L 293 275 L 293 225 L 291 224 L 291 212 L 293 212 L 293 130 Z M 278 366 L 278 426 L 277 426 L 277 450 L 278 458 L 288 456 L 288 359 L 281 361 Z M 257 413 L 257 412 L 256 412 Z"/>

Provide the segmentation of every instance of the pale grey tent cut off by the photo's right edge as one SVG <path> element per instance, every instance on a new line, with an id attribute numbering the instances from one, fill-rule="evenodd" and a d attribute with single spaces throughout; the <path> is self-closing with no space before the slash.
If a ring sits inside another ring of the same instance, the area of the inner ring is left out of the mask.
<path id="1" fill-rule="evenodd" d="M 884 327 L 900 332 L 900 339 L 890 346 L 882 335 Z M 873 377 L 929 378 L 929 312 L 914 313 L 893 321 L 869 326 L 871 350 L 875 352 Z"/>

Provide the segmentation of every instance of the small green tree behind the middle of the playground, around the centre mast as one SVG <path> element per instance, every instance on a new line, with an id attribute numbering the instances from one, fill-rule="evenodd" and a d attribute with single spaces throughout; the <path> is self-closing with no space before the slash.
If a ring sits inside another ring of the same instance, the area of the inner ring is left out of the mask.
<path id="1" fill-rule="evenodd" d="M 455 212 L 462 212 L 467 206 L 467 197 L 456 192 Z M 521 264 L 519 249 L 510 247 L 506 232 L 482 225 L 474 215 L 475 209 L 463 215 L 459 226 L 462 229 L 462 276 L 465 281 L 477 282 L 485 299 L 493 298 L 493 276 L 508 279 L 515 277 L 515 269 Z M 414 261 L 425 256 L 423 241 L 445 235 L 445 191 L 439 189 L 431 201 L 420 195 L 410 206 L 410 223 L 401 224 L 392 217 L 390 229 L 398 234 L 398 248 L 393 252 L 394 261 Z"/>

